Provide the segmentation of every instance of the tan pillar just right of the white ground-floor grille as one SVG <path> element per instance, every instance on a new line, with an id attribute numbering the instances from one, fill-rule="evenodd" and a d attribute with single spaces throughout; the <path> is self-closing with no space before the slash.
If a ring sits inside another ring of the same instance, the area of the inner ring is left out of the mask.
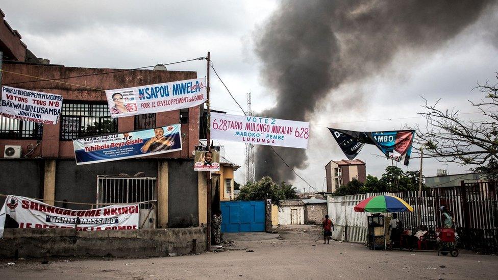
<path id="1" fill-rule="evenodd" d="M 168 227 L 168 161 L 159 160 L 157 169 L 157 226 L 166 228 Z"/>

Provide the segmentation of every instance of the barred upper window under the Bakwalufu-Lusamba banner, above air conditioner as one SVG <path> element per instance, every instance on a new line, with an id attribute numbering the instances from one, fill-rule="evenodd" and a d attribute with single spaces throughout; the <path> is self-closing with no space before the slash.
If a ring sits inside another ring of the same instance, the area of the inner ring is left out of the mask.
<path id="1" fill-rule="evenodd" d="M 41 139 L 43 124 L 0 117 L 0 139 Z"/>

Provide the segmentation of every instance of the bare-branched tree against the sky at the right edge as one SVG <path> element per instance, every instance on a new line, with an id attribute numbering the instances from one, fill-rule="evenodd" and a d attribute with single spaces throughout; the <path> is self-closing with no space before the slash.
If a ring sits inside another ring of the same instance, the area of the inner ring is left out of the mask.
<path id="1" fill-rule="evenodd" d="M 498 79 L 498 72 L 496 72 Z M 498 83 L 475 88 L 484 93 L 480 102 L 470 104 L 477 108 L 484 118 L 464 120 L 458 110 L 440 110 L 439 102 L 429 105 L 427 112 L 419 113 L 427 120 L 427 127 L 417 131 L 419 142 L 424 143 L 424 158 L 435 158 L 440 162 L 456 162 L 461 165 L 486 165 L 491 159 L 498 159 Z M 415 151 L 417 152 L 417 151 Z"/>

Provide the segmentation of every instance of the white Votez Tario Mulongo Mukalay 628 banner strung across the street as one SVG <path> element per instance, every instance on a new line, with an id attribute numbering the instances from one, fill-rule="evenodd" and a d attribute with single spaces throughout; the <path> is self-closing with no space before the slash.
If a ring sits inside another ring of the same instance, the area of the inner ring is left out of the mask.
<path id="1" fill-rule="evenodd" d="M 309 122 L 211 112 L 210 123 L 211 139 L 308 148 Z"/>

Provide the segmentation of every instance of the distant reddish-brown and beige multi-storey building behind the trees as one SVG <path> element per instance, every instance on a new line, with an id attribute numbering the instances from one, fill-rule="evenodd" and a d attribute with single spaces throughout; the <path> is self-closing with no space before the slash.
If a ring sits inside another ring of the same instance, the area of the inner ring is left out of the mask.
<path id="1" fill-rule="evenodd" d="M 327 176 L 327 192 L 331 193 L 353 179 L 365 182 L 366 167 L 361 160 L 330 161 L 325 166 L 325 174 Z"/>

